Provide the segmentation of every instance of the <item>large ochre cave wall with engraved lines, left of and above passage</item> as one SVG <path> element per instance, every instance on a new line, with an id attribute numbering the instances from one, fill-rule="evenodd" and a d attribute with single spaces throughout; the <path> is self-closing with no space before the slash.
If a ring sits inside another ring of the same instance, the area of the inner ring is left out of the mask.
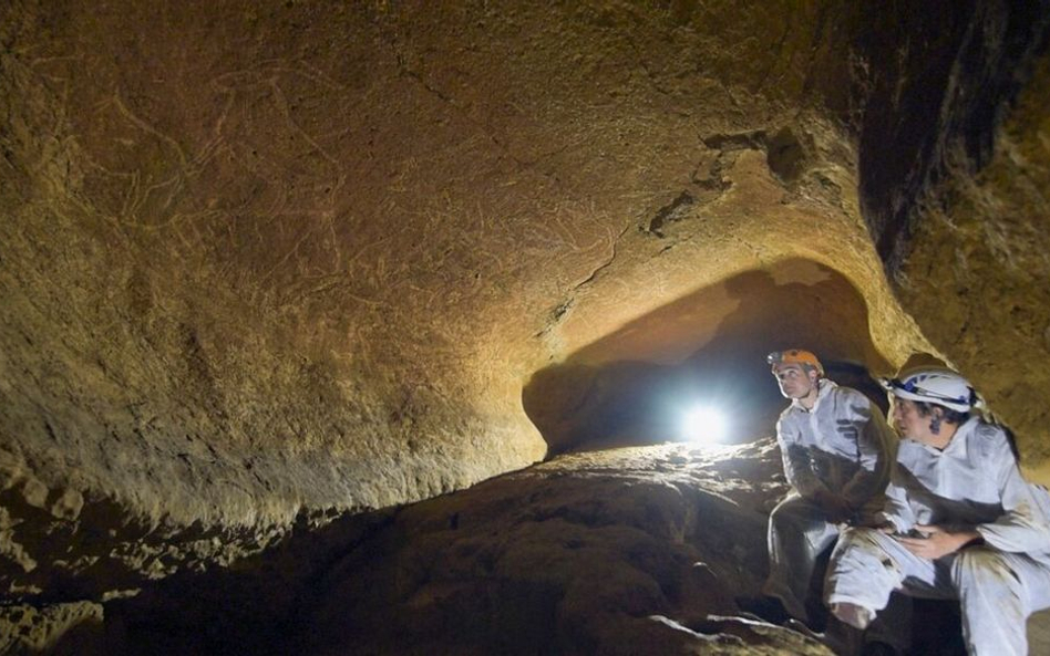
<path id="1" fill-rule="evenodd" d="M 848 12 L 8 4 L 8 590 L 526 465 L 533 372 L 785 259 L 924 347 L 822 104 Z"/>

